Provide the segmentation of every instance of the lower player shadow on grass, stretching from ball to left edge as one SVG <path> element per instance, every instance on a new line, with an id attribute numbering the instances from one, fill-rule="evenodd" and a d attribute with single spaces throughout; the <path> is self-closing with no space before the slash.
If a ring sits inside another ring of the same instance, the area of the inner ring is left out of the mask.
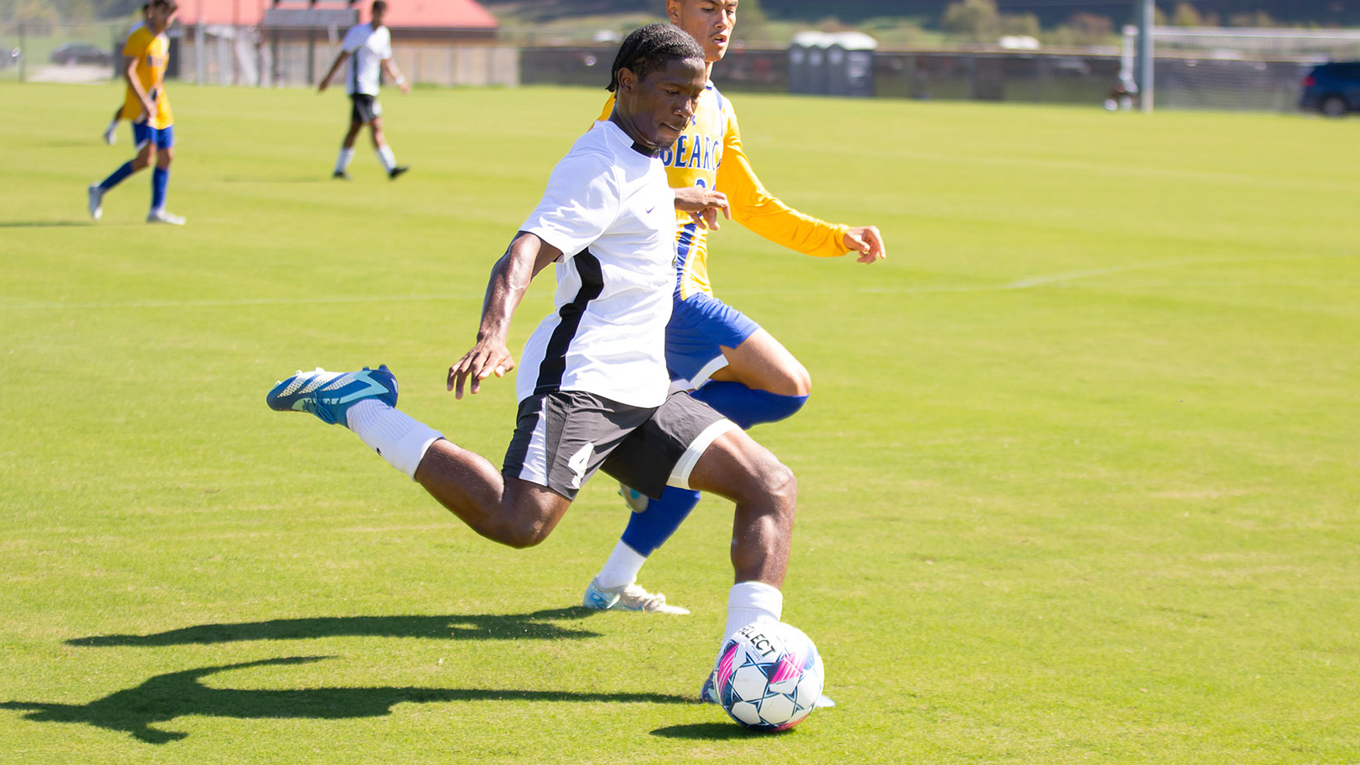
<path id="1" fill-rule="evenodd" d="M 185 715 L 242 719 L 340 720 L 382 717 L 397 704 L 431 701 L 620 701 L 692 704 L 683 696 L 661 693 L 573 693 L 554 690 L 483 690 L 457 687 L 310 687 L 296 690 L 218 689 L 203 678 L 228 670 L 268 664 L 306 664 L 328 656 L 287 656 L 220 667 L 201 667 L 156 675 L 147 682 L 88 704 L 5 701 L 0 709 L 27 709 L 24 719 L 39 723 L 84 723 L 122 731 L 147 743 L 169 743 L 189 734 L 155 728 Z"/>

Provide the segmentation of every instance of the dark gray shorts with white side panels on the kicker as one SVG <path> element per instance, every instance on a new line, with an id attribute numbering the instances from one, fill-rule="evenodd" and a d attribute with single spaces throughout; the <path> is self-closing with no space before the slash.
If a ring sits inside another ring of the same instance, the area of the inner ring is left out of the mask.
<path id="1" fill-rule="evenodd" d="M 583 391 L 552 391 L 520 402 L 502 474 L 575 500 L 597 470 L 657 498 L 690 487 L 709 444 L 736 423 L 713 407 L 672 393 L 660 407 L 632 407 Z"/>

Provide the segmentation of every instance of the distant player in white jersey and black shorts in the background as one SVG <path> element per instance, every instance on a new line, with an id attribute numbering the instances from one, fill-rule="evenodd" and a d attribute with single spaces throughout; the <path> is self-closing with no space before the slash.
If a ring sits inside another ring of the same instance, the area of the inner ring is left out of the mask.
<path id="1" fill-rule="evenodd" d="M 359 129 L 369 125 L 373 136 L 373 150 L 378 152 L 378 162 L 388 172 L 388 177 L 396 180 L 411 167 L 397 165 L 397 158 L 388 146 L 388 139 L 382 132 L 382 105 L 378 103 L 378 69 L 388 72 L 392 82 L 397 83 L 401 94 L 411 93 L 407 78 L 392 63 L 392 33 L 384 26 L 382 19 L 388 14 L 388 4 L 384 0 L 374 0 L 369 14 L 369 23 L 355 25 L 344 34 L 340 44 L 340 53 L 330 64 L 330 71 L 321 78 L 317 93 L 325 93 L 330 86 L 330 78 L 336 75 L 345 61 L 344 91 L 350 94 L 350 129 L 344 135 L 340 146 L 340 155 L 336 157 L 336 170 L 332 177 L 340 180 L 350 178 L 350 161 L 354 159 L 354 142 L 359 137 Z"/>

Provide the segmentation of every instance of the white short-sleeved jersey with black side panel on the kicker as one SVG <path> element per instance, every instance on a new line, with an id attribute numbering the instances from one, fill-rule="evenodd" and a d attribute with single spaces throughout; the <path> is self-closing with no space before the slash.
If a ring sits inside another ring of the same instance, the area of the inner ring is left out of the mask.
<path id="1" fill-rule="evenodd" d="M 556 310 L 525 344 L 524 399 L 585 391 L 635 407 L 666 397 L 675 193 L 661 161 L 609 121 L 577 139 L 520 227 L 562 250 Z"/>

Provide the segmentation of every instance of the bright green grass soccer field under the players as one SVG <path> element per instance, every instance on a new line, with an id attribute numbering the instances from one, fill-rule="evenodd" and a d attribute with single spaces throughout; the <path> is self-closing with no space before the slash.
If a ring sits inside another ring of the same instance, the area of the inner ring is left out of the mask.
<path id="1" fill-rule="evenodd" d="M 499 463 L 511 381 L 445 370 L 602 97 L 393 94 L 415 169 L 363 148 L 344 184 L 343 95 L 171 88 L 171 229 L 148 174 L 86 216 L 116 86 L 10 88 L 0 760 L 1360 762 L 1360 123 L 737 97 L 771 191 L 889 246 L 711 245 L 815 380 L 755 434 L 800 478 L 785 619 L 839 706 L 760 736 L 695 701 L 725 502 L 641 579 L 691 617 L 590 615 L 607 478 L 502 549 L 264 406 L 386 362 Z"/>

